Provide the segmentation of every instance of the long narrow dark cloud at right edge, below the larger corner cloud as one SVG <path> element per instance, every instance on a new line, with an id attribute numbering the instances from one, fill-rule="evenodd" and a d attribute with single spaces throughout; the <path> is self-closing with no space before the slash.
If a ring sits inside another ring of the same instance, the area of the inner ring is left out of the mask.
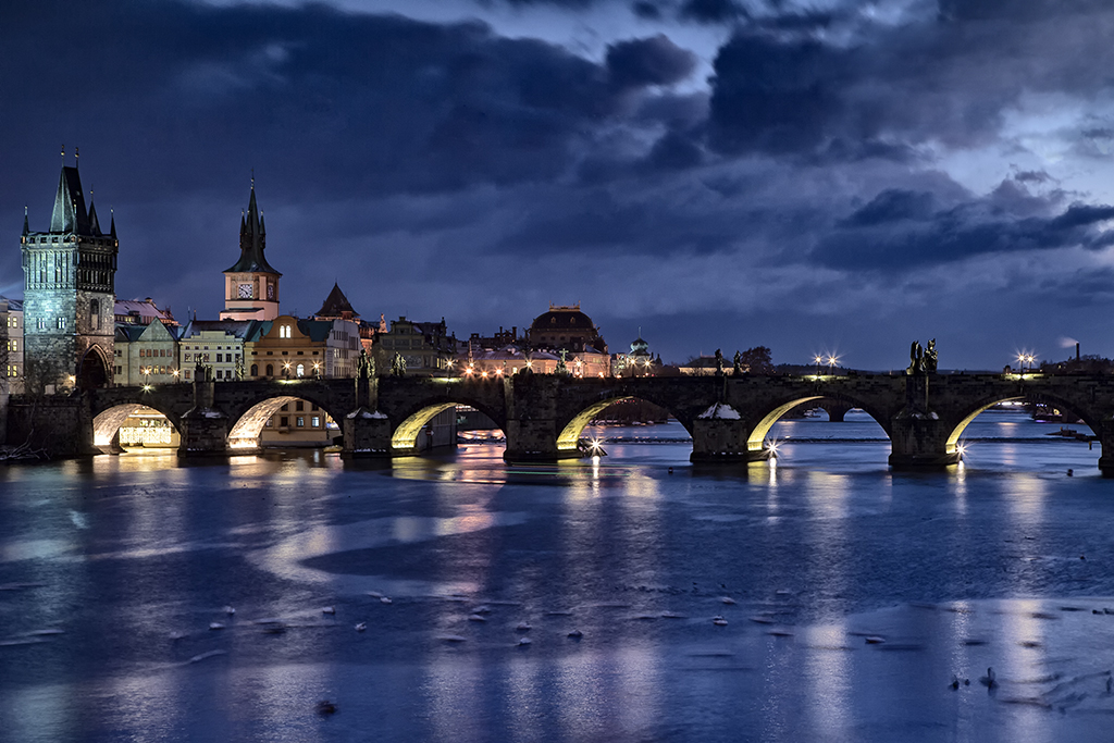
<path id="1" fill-rule="evenodd" d="M 1003 190 L 1010 195 L 1003 196 Z M 1045 199 L 1019 197 L 999 187 L 984 199 L 942 206 L 932 194 L 888 189 L 841 221 L 814 252 L 823 266 L 906 271 L 962 261 L 983 254 L 1098 250 L 1114 243 L 1103 229 L 1114 206 L 1072 204 L 1059 214 L 1025 215 Z"/>

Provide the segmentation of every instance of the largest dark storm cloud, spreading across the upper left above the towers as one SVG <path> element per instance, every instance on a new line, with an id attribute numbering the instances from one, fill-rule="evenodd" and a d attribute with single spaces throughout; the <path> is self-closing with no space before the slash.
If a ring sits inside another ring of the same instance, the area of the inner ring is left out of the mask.
<path id="1" fill-rule="evenodd" d="M 76 137 L 175 188 L 243 182 L 253 165 L 302 197 L 550 179 L 633 94 L 694 66 L 663 36 L 617 42 L 597 65 L 479 22 L 324 6 L 39 3 L 21 14 L 0 26 L 0 95 L 22 110 L 80 111 L 66 127 Z M 42 53 L 41 39 L 62 37 L 96 39 L 97 53 Z M 6 128 L 21 151 L 58 147 L 33 117 Z M 183 157 L 197 150 L 206 157 Z"/>

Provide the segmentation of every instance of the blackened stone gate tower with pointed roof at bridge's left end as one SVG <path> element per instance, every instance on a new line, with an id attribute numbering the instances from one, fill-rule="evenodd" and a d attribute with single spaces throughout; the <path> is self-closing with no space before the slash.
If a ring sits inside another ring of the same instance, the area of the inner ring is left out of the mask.
<path id="1" fill-rule="evenodd" d="M 23 254 L 23 359 L 28 393 L 107 387 L 113 379 L 116 219 L 106 235 L 77 167 L 62 165 L 50 229 L 31 232 Z"/>

